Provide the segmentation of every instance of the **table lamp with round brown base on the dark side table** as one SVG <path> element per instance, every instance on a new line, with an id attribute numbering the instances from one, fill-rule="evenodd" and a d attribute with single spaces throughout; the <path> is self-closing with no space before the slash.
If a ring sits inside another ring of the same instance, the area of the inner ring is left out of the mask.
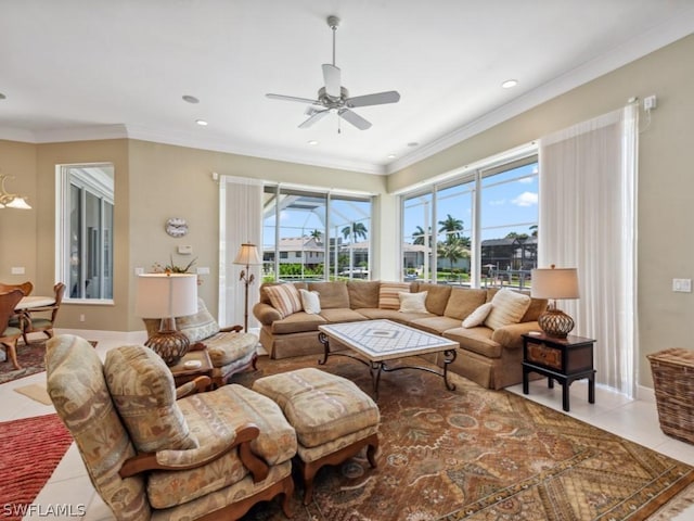
<path id="1" fill-rule="evenodd" d="M 540 315 L 538 323 L 548 336 L 565 339 L 574 329 L 574 319 L 556 308 L 558 298 L 578 298 L 578 274 L 576 268 L 534 269 L 530 294 L 537 298 L 549 298 L 553 302 Z"/>

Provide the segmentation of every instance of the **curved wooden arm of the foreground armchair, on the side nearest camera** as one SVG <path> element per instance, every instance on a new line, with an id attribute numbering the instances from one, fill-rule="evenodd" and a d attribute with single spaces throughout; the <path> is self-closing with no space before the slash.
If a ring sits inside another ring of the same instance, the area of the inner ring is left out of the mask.
<path id="1" fill-rule="evenodd" d="M 150 470 L 195 469 L 215 461 L 239 447 L 241 461 L 253 474 L 253 481 L 257 483 L 265 480 L 270 471 L 268 465 L 250 452 L 250 442 L 259 434 L 260 429 L 257 425 L 246 423 L 236 429 L 231 440 L 220 440 L 214 446 L 138 454 L 123 463 L 118 474 L 125 479 Z"/>

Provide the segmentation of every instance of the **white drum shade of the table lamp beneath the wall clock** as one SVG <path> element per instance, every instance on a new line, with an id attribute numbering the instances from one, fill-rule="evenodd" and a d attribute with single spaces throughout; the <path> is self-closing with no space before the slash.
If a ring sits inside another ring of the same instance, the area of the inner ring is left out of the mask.
<path id="1" fill-rule="evenodd" d="M 197 313 L 197 276 L 144 274 L 138 276 L 134 314 L 143 318 L 176 318 Z"/>

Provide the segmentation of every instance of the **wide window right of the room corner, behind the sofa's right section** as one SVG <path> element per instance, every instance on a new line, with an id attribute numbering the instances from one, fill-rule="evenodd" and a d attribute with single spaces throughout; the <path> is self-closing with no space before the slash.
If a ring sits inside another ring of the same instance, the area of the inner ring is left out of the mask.
<path id="1" fill-rule="evenodd" d="M 404 280 L 525 288 L 537 266 L 537 155 L 401 196 Z"/>

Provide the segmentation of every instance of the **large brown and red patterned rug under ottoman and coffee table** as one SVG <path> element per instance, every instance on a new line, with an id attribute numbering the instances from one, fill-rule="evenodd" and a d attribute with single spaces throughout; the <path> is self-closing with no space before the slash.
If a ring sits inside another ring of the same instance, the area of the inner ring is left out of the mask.
<path id="1" fill-rule="evenodd" d="M 258 371 L 233 383 L 250 385 L 317 358 L 262 357 Z M 322 368 L 371 392 L 359 363 L 335 356 Z M 428 372 L 383 374 L 378 467 L 363 454 L 324 467 L 308 507 L 297 486 L 294 520 L 637 521 L 694 483 L 694 469 L 680 461 L 513 393 L 453 381 L 449 392 Z M 244 519 L 284 517 L 275 500 Z"/>

